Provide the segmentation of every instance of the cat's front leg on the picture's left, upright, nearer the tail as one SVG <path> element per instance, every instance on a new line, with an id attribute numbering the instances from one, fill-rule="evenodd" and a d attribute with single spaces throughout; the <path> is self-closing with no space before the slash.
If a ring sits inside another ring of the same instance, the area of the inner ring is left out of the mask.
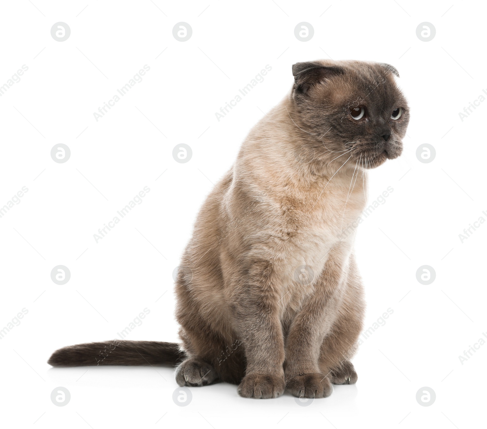
<path id="1" fill-rule="evenodd" d="M 231 309 L 246 358 L 238 393 L 246 398 L 275 398 L 284 393 L 284 340 L 277 290 L 271 263 L 253 260 L 233 291 Z"/>

